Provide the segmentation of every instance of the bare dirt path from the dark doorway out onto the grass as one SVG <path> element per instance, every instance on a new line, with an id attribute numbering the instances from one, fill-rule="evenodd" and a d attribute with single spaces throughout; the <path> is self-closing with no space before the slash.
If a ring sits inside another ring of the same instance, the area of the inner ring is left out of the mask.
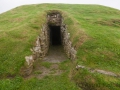
<path id="1" fill-rule="evenodd" d="M 52 46 L 45 58 L 35 61 L 33 72 L 31 75 L 25 77 L 25 79 L 30 79 L 32 77 L 42 79 L 49 75 L 60 75 L 64 70 L 59 68 L 59 63 L 65 60 L 67 60 L 67 57 L 62 46 Z"/>

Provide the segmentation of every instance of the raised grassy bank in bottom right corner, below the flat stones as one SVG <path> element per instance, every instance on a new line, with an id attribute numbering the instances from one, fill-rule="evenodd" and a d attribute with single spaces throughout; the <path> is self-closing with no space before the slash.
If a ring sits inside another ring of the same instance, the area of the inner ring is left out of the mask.
<path id="1" fill-rule="evenodd" d="M 73 79 L 84 90 L 119 90 L 120 79 L 82 69 L 73 71 Z"/>

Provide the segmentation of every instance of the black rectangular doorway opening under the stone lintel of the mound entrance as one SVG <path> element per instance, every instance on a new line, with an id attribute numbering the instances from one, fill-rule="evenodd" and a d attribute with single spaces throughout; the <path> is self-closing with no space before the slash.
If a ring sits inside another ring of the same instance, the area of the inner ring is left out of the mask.
<path id="1" fill-rule="evenodd" d="M 60 26 L 49 26 L 50 28 L 50 43 L 51 45 L 61 45 Z"/>

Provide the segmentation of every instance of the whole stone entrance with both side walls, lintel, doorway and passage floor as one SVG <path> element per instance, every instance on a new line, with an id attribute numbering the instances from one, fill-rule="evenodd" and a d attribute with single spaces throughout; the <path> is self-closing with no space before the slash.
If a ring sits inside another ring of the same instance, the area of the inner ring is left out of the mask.
<path id="1" fill-rule="evenodd" d="M 25 56 L 27 68 L 23 72 L 27 75 L 32 72 L 33 63 L 39 58 L 43 62 L 51 63 L 60 63 L 67 57 L 72 60 L 76 59 L 77 52 L 70 41 L 70 33 L 67 31 L 60 11 L 47 12 L 47 22 L 43 24 L 41 33 L 30 50 L 32 55 Z"/>

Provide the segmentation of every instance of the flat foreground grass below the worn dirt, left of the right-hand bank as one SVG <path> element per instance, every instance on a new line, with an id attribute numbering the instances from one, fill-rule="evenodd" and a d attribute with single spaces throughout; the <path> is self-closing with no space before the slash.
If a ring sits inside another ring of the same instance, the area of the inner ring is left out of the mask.
<path id="1" fill-rule="evenodd" d="M 65 61 L 60 64 L 60 67 L 70 65 L 70 61 Z M 20 76 L 2 79 L 0 80 L 0 90 L 81 90 L 73 80 L 68 78 L 70 70 L 70 68 L 67 68 L 61 75 L 49 75 L 40 80 L 37 78 L 25 80 Z M 36 71 L 34 74 L 41 73 Z"/>

